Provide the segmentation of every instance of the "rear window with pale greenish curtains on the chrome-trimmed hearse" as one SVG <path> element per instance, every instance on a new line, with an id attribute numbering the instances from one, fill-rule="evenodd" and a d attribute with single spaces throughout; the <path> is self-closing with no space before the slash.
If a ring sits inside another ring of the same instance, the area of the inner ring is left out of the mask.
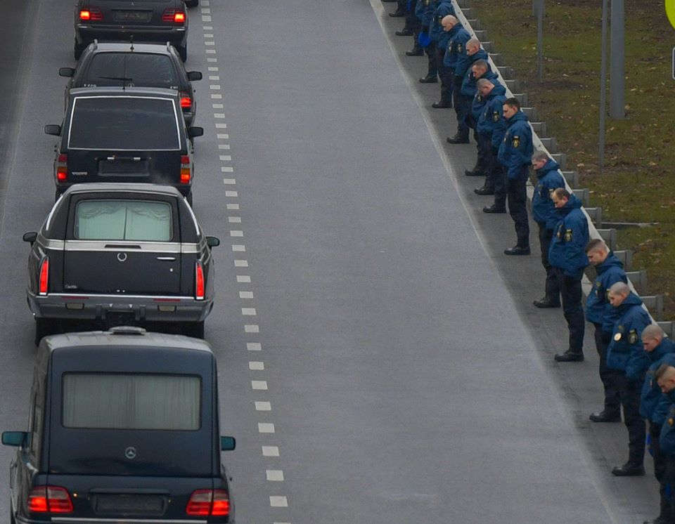
<path id="1" fill-rule="evenodd" d="M 144 240 L 169 242 L 172 209 L 168 202 L 82 200 L 75 207 L 77 240 Z"/>

